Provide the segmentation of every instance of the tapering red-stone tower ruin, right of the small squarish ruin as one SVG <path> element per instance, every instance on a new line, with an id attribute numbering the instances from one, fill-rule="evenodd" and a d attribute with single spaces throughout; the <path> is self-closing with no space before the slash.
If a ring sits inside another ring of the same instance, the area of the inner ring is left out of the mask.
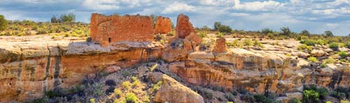
<path id="1" fill-rule="evenodd" d="M 195 32 L 195 29 L 193 29 L 193 26 L 190 22 L 190 18 L 181 13 L 177 17 L 176 35 L 179 38 L 186 38 L 187 35 L 190 35 L 190 33 L 193 33 L 193 32 Z"/>

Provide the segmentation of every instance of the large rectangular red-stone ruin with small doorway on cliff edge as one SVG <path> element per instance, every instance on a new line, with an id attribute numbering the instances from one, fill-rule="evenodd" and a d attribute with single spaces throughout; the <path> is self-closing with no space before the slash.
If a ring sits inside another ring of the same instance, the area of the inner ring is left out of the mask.
<path id="1" fill-rule="evenodd" d="M 148 16 L 104 16 L 93 13 L 90 22 L 90 37 L 102 47 L 114 42 L 152 42 L 153 19 Z"/>

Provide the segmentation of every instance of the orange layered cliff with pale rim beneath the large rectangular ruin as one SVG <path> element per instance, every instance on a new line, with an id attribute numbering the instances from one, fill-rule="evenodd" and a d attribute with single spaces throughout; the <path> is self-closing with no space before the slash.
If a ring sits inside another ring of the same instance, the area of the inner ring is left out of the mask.
<path id="1" fill-rule="evenodd" d="M 159 58 L 163 48 L 147 42 L 115 42 L 101 47 L 83 41 L 0 40 L 0 102 L 33 100 L 53 88 L 77 85 L 89 74 L 116 72 L 118 67 L 152 61 Z"/>

